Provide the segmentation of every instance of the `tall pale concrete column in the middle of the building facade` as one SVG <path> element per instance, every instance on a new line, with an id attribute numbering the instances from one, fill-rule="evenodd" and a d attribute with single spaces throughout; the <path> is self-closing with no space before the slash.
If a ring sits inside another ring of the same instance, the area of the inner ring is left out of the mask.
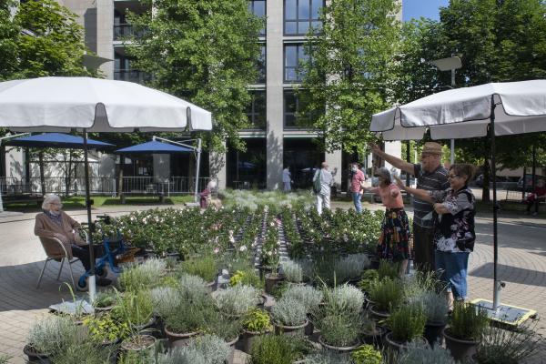
<path id="1" fill-rule="evenodd" d="M 283 1 L 267 3 L 267 187 L 277 189 L 282 181 L 283 161 Z"/>

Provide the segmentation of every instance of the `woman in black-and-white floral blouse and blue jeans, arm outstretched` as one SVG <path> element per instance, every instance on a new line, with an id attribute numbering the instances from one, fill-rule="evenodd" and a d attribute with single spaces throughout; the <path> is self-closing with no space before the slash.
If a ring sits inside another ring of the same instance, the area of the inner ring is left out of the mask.
<path id="1" fill-rule="evenodd" d="M 433 204 L 438 214 L 434 228 L 436 269 L 449 292 L 450 306 L 453 299 L 467 297 L 467 270 L 469 255 L 474 249 L 475 197 L 468 187 L 474 167 L 454 164 L 450 167 L 450 187 L 446 190 L 428 191 L 404 186 L 397 178 L 399 187 L 414 197 Z"/>

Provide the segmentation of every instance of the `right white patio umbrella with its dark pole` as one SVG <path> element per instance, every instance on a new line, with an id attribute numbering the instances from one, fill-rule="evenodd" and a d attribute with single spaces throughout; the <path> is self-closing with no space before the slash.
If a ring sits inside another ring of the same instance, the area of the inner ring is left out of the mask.
<path id="1" fill-rule="evenodd" d="M 499 306 L 495 136 L 546 131 L 546 80 L 457 88 L 426 96 L 372 116 L 369 130 L 386 140 L 491 137 L 493 178 L 493 309 Z"/>

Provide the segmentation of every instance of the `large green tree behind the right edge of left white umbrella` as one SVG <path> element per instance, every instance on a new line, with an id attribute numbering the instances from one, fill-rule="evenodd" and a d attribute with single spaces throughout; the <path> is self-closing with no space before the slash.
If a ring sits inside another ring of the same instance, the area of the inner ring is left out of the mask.
<path id="1" fill-rule="evenodd" d="M 147 0 L 143 3 L 150 5 Z M 153 10 L 129 16 L 141 34 L 127 43 L 135 67 L 151 86 L 212 112 L 214 128 L 204 133 L 209 147 L 223 142 L 243 148 L 238 130 L 248 126 L 248 84 L 257 76 L 258 32 L 263 21 L 246 0 L 155 1 Z"/>

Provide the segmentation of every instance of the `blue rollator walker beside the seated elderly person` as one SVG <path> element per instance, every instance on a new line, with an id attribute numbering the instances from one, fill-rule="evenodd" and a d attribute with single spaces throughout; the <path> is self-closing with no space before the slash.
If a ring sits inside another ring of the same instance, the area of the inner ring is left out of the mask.
<path id="1" fill-rule="evenodd" d="M 110 223 L 110 217 L 107 215 L 98 216 L 99 220 L 103 221 L 106 225 Z M 86 225 L 86 224 L 83 224 Z M 87 232 L 83 230 L 87 236 Z M 87 240 L 90 241 L 90 240 Z M 107 237 L 103 235 L 102 245 L 98 247 L 104 247 L 101 257 L 95 259 L 95 274 L 98 278 L 106 278 L 108 275 L 108 270 L 113 273 L 121 273 L 122 268 L 118 268 L 116 265 L 116 257 L 126 253 L 126 245 L 123 241 L 123 235 L 116 230 L 116 237 Z M 90 276 L 91 270 L 86 270 L 78 280 L 77 280 L 77 289 L 81 291 L 87 290 L 87 278 Z"/>

